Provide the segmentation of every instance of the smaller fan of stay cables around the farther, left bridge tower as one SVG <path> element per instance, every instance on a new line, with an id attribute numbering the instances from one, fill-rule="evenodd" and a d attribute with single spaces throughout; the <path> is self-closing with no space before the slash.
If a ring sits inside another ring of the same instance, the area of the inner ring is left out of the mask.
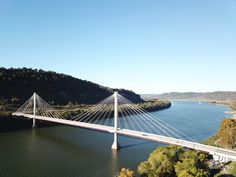
<path id="1" fill-rule="evenodd" d="M 64 119 L 55 109 L 53 109 L 46 101 L 39 95 L 34 93 L 17 111 L 16 113 L 34 115 L 42 117 Z"/>

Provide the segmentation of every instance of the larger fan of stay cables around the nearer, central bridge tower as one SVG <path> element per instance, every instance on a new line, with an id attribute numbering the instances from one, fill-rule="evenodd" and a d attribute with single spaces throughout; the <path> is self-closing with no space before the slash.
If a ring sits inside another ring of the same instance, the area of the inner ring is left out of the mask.
<path id="1" fill-rule="evenodd" d="M 194 141 L 120 94 L 118 94 L 118 115 L 118 127 L 120 129 L 129 129 Z M 109 96 L 96 106 L 89 108 L 71 120 L 113 127 L 114 96 Z"/>

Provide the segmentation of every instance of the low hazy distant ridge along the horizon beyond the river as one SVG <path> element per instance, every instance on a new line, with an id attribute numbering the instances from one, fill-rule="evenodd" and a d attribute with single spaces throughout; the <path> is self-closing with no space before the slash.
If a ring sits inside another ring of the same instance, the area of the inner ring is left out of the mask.
<path id="1" fill-rule="evenodd" d="M 236 100 L 236 91 L 216 91 L 216 92 L 169 92 L 163 94 L 141 94 L 143 99 L 179 99 L 179 100 Z"/>

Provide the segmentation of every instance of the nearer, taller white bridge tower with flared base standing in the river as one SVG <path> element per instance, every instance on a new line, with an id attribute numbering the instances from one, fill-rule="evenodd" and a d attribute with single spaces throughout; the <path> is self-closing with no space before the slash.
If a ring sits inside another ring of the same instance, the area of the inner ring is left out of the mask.
<path id="1" fill-rule="evenodd" d="M 118 92 L 114 92 L 114 141 L 113 144 L 111 146 L 112 149 L 119 149 L 120 145 L 118 143 L 118 134 L 117 131 L 118 130 Z"/>

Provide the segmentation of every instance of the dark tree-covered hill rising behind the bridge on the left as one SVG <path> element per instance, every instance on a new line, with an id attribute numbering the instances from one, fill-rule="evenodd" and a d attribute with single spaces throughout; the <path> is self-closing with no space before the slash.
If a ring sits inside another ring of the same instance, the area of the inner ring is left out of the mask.
<path id="1" fill-rule="evenodd" d="M 37 92 L 43 99 L 54 104 L 93 104 L 111 95 L 114 90 L 118 89 L 52 71 L 0 68 L 0 100 L 6 103 L 22 103 L 33 92 Z M 118 91 L 135 103 L 143 102 L 140 96 L 132 91 Z"/>

